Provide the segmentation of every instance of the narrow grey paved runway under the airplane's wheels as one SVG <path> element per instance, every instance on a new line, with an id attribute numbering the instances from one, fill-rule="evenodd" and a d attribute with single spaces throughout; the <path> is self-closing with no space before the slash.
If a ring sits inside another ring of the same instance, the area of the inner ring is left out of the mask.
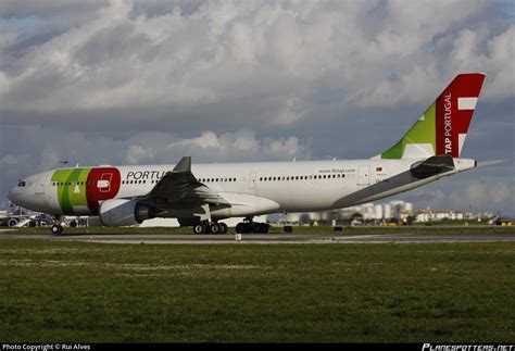
<path id="1" fill-rule="evenodd" d="M 497 242 L 515 241 L 515 234 L 380 234 L 380 235 L 322 235 L 322 234 L 280 234 L 241 235 L 30 235 L 0 233 L 0 240 L 56 240 L 88 241 L 109 243 L 357 243 L 357 242 Z"/>

